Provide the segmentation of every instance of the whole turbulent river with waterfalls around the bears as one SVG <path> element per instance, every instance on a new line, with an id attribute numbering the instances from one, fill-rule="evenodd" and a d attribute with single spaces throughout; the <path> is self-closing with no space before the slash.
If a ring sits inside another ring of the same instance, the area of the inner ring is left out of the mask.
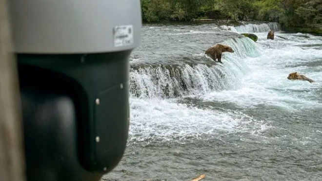
<path id="1" fill-rule="evenodd" d="M 217 43 L 235 50 L 223 64 L 204 54 Z M 322 37 L 277 23 L 145 24 L 130 65 L 128 144 L 103 180 L 322 180 Z M 315 82 L 288 80 L 295 71 Z"/>

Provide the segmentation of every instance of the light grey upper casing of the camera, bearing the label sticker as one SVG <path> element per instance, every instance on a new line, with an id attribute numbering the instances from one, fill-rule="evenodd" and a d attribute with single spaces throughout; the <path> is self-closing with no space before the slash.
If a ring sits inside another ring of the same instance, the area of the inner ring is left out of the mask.
<path id="1" fill-rule="evenodd" d="M 103 53 L 141 44 L 140 0 L 8 2 L 16 53 Z"/>

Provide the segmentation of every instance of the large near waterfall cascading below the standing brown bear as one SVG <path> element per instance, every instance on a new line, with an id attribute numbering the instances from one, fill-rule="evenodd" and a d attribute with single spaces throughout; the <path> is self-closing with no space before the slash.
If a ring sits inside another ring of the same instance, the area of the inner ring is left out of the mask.
<path id="1" fill-rule="evenodd" d="M 234 53 L 223 53 L 223 65 L 206 65 L 207 61 L 213 60 L 204 53 L 195 55 L 204 58 L 204 64 L 148 67 L 135 64 L 130 71 L 131 96 L 178 97 L 236 88 L 239 77 L 247 71 L 243 58 L 257 56 L 259 49 L 248 38 L 234 38 L 222 44 L 235 50 Z"/>

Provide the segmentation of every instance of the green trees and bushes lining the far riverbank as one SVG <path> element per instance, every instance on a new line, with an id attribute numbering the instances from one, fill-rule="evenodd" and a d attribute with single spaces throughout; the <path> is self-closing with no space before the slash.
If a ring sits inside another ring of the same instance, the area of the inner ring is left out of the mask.
<path id="1" fill-rule="evenodd" d="M 141 0 L 141 8 L 143 22 L 259 20 L 286 28 L 322 23 L 322 0 Z"/>

